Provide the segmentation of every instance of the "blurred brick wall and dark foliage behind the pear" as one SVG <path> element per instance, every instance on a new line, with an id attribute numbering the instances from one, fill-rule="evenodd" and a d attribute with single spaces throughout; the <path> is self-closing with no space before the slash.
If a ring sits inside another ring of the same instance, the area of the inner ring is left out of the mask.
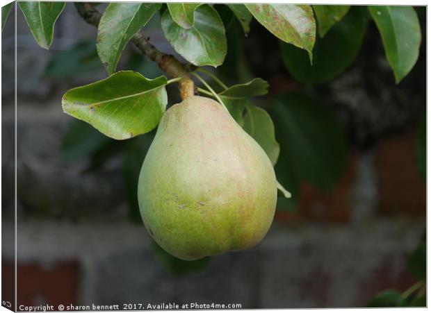
<path id="1" fill-rule="evenodd" d="M 364 307 L 381 291 L 401 294 L 425 277 L 425 7 L 416 8 L 419 59 L 399 85 L 369 19 L 347 69 L 332 72 L 330 56 L 343 49 L 334 44 L 310 74 L 300 56 L 297 67 L 289 62 L 297 53 L 292 46 L 256 21 L 245 37 L 225 6 L 215 8 L 228 39 L 216 74 L 229 85 L 254 77 L 270 83 L 254 104 L 273 118 L 277 178 L 293 198 L 279 200 L 273 226 L 255 248 L 197 262 L 164 253 L 147 235 L 136 198 L 154 131 L 119 142 L 61 108 L 67 90 L 106 77 L 97 29 L 69 2 L 47 51 L 18 10 L 18 305 Z M 1 51 L 3 298 L 13 298 L 14 10 Z M 344 19 L 355 10 L 361 8 Z M 159 50 L 176 55 L 157 14 L 144 31 Z M 163 74 L 131 44 L 118 69 Z M 171 105 L 179 102 L 175 86 L 168 94 Z"/>

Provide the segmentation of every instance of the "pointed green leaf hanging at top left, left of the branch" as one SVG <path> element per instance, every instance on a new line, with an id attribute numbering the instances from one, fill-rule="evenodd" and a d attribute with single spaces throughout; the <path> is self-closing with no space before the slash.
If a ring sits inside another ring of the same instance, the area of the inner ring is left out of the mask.
<path id="1" fill-rule="evenodd" d="M 54 37 L 54 24 L 65 8 L 65 2 L 18 1 L 27 25 L 42 48 L 49 49 Z"/>

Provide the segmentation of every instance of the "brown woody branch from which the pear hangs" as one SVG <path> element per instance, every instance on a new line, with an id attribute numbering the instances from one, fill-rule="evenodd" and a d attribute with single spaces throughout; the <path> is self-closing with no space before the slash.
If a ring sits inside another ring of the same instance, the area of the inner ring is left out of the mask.
<path id="1" fill-rule="evenodd" d="M 81 15 L 81 17 L 88 24 L 94 25 L 96 27 L 99 26 L 101 13 L 96 10 L 91 3 L 75 2 L 75 6 L 79 12 L 79 15 Z M 156 62 L 158 67 L 168 74 L 168 76 L 172 78 L 182 77 L 181 81 L 178 83 L 181 99 L 184 100 L 188 96 L 193 96 L 193 94 L 195 94 L 195 84 L 188 75 L 188 68 L 186 65 L 179 62 L 179 60 L 177 60 L 177 58 L 174 56 L 158 51 L 156 47 L 151 42 L 149 42 L 142 31 L 138 31 L 138 33 L 133 35 L 130 41 L 133 42 L 133 44 L 135 44 L 135 46 L 145 56 Z"/>

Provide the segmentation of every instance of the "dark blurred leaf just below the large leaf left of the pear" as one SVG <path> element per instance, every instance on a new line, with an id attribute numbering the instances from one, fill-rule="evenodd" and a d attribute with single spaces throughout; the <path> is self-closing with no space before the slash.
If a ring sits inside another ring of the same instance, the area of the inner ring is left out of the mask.
<path id="1" fill-rule="evenodd" d="M 99 133 L 90 124 L 73 119 L 67 125 L 60 151 L 67 160 L 87 158 L 109 142 L 110 138 Z"/>

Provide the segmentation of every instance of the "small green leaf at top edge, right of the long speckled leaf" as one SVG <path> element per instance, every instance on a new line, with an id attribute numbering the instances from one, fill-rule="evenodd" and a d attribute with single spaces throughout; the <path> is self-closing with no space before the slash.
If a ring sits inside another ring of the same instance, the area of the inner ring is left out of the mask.
<path id="1" fill-rule="evenodd" d="M 315 4 L 313 9 L 317 19 L 318 33 L 320 37 L 323 37 L 336 22 L 341 21 L 350 6 L 320 6 Z"/>

